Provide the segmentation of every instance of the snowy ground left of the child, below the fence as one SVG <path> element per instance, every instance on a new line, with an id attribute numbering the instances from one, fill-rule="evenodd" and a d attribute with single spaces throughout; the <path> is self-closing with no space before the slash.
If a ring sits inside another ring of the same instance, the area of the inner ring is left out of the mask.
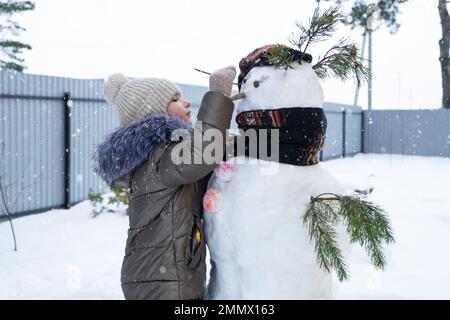
<path id="1" fill-rule="evenodd" d="M 0 299 L 123 299 L 120 267 L 128 217 L 90 217 L 84 201 L 0 224 Z"/>

